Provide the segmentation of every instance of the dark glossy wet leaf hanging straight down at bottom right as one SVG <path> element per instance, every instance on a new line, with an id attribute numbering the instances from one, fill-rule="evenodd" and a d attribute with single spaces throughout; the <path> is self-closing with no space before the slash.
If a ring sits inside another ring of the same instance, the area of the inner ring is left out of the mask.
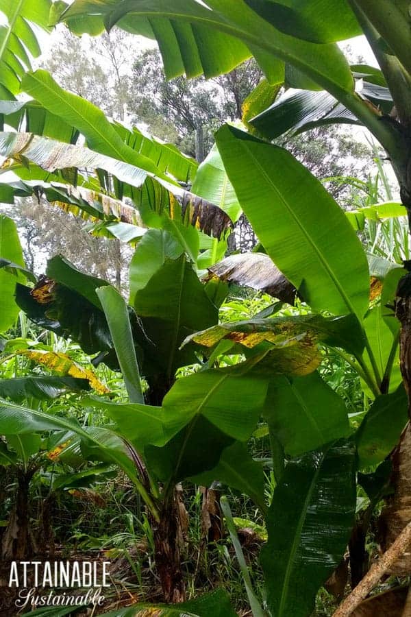
<path id="1" fill-rule="evenodd" d="M 286 466 L 262 548 L 267 604 L 276 617 L 306 617 L 345 552 L 356 509 L 355 449 L 339 441 Z"/>

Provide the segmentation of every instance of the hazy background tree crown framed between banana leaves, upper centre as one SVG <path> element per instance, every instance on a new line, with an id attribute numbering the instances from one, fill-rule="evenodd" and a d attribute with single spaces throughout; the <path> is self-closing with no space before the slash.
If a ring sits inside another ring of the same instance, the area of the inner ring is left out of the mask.
<path id="1" fill-rule="evenodd" d="M 147 49 L 133 65 L 129 110 L 135 122 L 145 122 L 151 133 L 173 141 L 201 162 L 214 143 L 213 132 L 225 120 L 241 118 L 242 103 L 261 77 L 251 59 L 215 80 L 167 81 L 160 53 Z"/>

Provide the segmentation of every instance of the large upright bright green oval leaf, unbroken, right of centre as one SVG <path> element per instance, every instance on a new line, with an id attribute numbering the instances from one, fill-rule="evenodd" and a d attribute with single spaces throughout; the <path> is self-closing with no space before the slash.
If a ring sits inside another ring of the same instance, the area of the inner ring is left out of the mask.
<path id="1" fill-rule="evenodd" d="M 314 310 L 362 320 L 369 306 L 365 252 L 319 180 L 286 150 L 228 125 L 216 143 L 242 209 L 284 276 Z"/>

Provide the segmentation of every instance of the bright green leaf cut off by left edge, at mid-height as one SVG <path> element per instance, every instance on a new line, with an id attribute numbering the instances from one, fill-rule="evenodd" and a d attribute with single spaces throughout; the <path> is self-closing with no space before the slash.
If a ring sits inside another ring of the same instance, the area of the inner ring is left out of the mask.
<path id="1" fill-rule="evenodd" d="M 0 215 L 0 258 L 3 266 L 10 263 L 24 267 L 23 251 L 12 219 Z M 24 280 L 21 274 L 12 274 L 0 265 L 0 332 L 7 330 L 18 315 L 14 301 L 16 282 Z"/>

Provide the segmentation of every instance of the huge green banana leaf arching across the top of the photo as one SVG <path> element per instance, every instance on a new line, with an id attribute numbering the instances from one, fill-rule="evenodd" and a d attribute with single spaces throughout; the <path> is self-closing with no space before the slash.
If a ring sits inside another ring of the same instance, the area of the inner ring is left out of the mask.
<path id="1" fill-rule="evenodd" d="M 273 27 L 266 19 L 260 18 L 242 0 L 210 0 L 208 7 L 194 0 L 177 0 L 172 5 L 166 6 L 160 0 L 125 0 L 114 3 L 112 1 L 77 0 L 66 10 L 62 19 L 93 12 L 105 16 L 106 25 L 112 27 L 127 16 L 127 22 L 122 21 L 121 26 L 124 27 L 127 23 L 127 26 L 135 28 L 135 32 L 138 32 L 141 16 L 149 20 L 150 25 L 154 25 L 158 31 L 160 31 L 160 25 L 164 27 L 167 24 L 170 27 L 170 21 L 173 20 L 179 28 L 186 31 L 187 27 L 190 28 L 192 41 L 198 45 L 201 54 L 213 51 L 217 58 L 226 61 L 231 58 L 231 68 L 247 57 L 247 48 L 244 47 L 242 47 L 242 53 L 237 52 L 236 56 L 231 55 L 232 49 L 230 47 L 225 49 L 227 45 L 225 37 L 220 40 L 211 38 L 209 42 L 207 38 L 201 36 L 201 29 L 206 27 L 208 32 L 224 32 L 236 36 L 245 45 L 251 47 L 256 56 L 259 53 L 271 54 L 284 62 L 296 64 L 297 68 L 306 71 L 319 84 L 326 80 L 327 83 L 333 82 L 336 88 L 342 88 L 347 93 L 352 90 L 351 73 L 343 54 L 335 45 L 318 45 L 304 40 L 295 40 Z M 174 36 L 163 37 L 160 32 L 157 34 L 155 29 L 155 37 L 158 39 L 164 63 L 167 64 L 170 62 L 167 56 L 172 58 L 176 47 L 178 49 L 176 36 L 173 33 Z M 146 33 L 140 30 L 140 34 Z M 221 68 L 218 68 L 218 71 L 225 72 Z M 184 65 L 181 63 L 178 74 L 184 72 Z"/>

